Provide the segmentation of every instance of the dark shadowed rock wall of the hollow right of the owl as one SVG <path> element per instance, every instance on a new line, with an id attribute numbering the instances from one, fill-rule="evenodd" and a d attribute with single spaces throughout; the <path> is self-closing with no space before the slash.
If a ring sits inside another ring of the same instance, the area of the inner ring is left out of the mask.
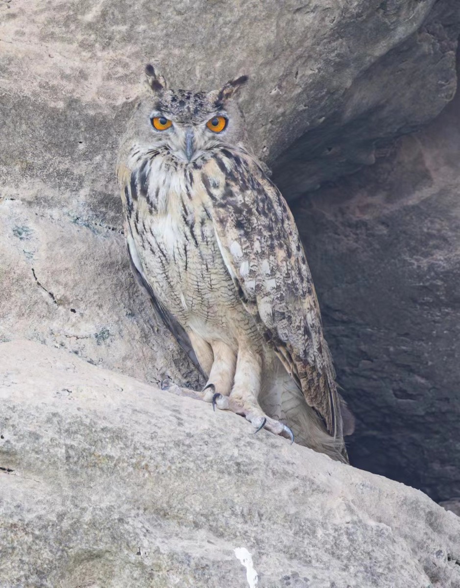
<path id="1" fill-rule="evenodd" d="M 460 496 L 460 93 L 424 131 L 294 205 L 354 465 Z"/>

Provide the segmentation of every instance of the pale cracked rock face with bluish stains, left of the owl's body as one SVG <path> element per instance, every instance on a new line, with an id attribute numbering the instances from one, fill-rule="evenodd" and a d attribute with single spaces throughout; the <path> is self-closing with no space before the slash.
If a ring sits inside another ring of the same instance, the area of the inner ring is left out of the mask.
<path id="1" fill-rule="evenodd" d="M 134 283 L 120 229 L 19 198 L 0 201 L 0 234 L 0 340 L 65 348 L 156 385 L 200 385 Z"/>

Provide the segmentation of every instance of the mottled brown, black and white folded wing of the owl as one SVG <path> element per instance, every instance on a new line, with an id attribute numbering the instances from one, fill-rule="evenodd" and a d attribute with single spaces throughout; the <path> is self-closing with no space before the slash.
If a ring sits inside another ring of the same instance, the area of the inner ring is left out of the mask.
<path id="1" fill-rule="evenodd" d="M 205 166 L 202 183 L 225 266 L 242 304 L 306 402 L 330 435 L 342 436 L 334 367 L 294 217 L 255 159 L 229 149 L 222 153 Z"/>

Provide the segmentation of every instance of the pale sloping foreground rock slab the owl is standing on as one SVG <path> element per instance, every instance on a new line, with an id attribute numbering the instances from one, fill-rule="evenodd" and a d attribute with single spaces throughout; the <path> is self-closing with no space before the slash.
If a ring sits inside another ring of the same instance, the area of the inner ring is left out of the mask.
<path id="1" fill-rule="evenodd" d="M 0 353 L 2 587 L 251 586 L 238 548 L 258 588 L 460 585 L 460 519 L 418 490 L 63 350 Z"/>

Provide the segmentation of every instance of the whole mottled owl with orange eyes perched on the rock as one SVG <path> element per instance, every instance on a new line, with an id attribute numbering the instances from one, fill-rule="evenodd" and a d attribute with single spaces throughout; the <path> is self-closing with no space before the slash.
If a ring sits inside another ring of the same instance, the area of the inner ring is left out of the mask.
<path id="1" fill-rule="evenodd" d="M 347 462 L 304 248 L 236 102 L 248 78 L 195 92 L 145 72 L 117 177 L 134 274 L 207 380 L 184 394 Z"/>

